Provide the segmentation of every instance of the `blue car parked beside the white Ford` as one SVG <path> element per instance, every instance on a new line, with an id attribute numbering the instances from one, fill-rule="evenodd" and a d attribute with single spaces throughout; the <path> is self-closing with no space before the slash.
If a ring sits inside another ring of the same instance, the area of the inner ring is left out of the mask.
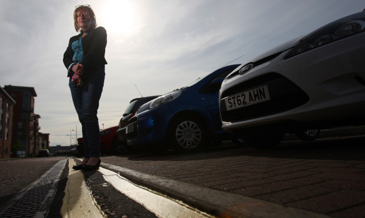
<path id="1" fill-rule="evenodd" d="M 128 148 L 195 151 L 224 140 L 242 143 L 221 128 L 219 89 L 239 66 L 230 65 L 142 105 L 126 127 Z"/>

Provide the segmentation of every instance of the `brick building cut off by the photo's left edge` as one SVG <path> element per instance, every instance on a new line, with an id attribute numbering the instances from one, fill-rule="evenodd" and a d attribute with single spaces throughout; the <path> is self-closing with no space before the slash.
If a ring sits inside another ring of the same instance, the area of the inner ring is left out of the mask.
<path id="1" fill-rule="evenodd" d="M 10 158 L 13 107 L 16 101 L 0 87 L 0 158 Z"/>

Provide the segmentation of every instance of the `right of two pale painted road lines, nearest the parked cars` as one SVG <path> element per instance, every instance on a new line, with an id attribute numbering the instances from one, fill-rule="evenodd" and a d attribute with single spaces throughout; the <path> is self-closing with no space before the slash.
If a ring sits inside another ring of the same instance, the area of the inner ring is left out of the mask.
<path id="1" fill-rule="evenodd" d="M 104 180 L 109 182 L 115 189 L 140 203 L 157 217 L 213 218 L 181 201 L 170 199 L 146 187 L 129 182 L 126 178 L 111 170 L 100 167 L 99 172 L 103 174 Z"/>

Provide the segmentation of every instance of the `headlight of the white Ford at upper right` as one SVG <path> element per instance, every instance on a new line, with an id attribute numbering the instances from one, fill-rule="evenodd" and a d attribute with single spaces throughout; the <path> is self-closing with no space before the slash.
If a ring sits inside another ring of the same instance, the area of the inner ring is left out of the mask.
<path id="1" fill-rule="evenodd" d="M 285 59 L 364 31 L 365 19 L 345 20 L 333 23 L 301 39 L 301 42 L 285 56 Z"/>

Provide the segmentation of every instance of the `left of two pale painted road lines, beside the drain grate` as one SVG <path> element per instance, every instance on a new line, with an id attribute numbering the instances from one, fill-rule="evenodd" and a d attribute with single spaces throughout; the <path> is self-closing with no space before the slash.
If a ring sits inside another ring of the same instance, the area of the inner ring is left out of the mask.
<path id="1" fill-rule="evenodd" d="M 91 197 L 85 185 L 84 174 L 81 170 L 73 170 L 75 161 L 70 158 L 69 176 L 65 188 L 65 197 L 61 207 L 63 218 L 103 218 L 103 212 Z"/>

